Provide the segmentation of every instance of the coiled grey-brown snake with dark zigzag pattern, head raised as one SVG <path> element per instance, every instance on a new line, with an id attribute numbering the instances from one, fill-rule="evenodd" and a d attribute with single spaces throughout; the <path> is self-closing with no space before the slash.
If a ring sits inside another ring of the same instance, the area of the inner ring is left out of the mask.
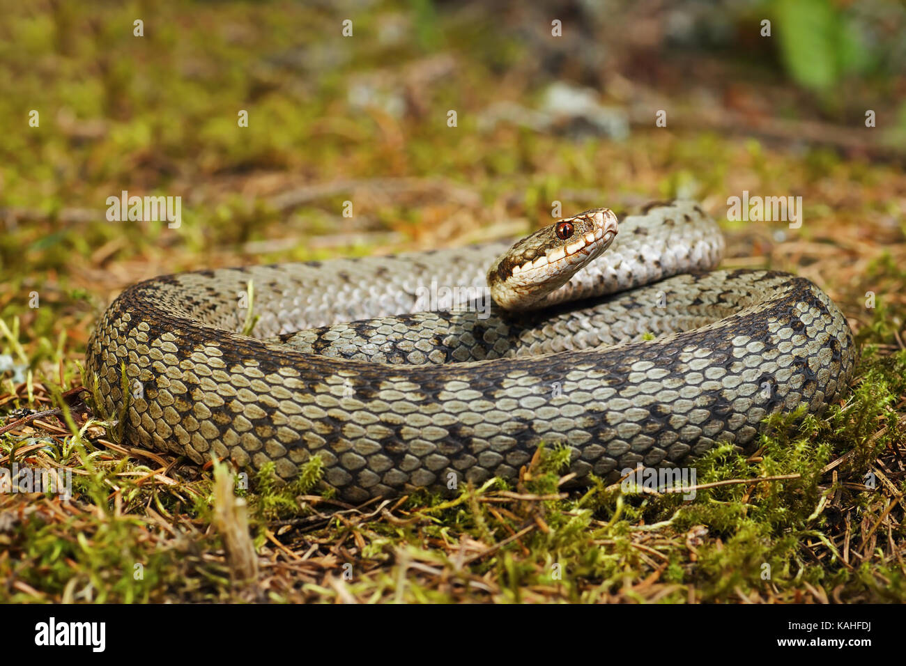
<path id="1" fill-rule="evenodd" d="M 101 315 L 87 377 L 132 444 L 278 482 L 318 457 L 351 502 L 513 483 L 542 445 L 571 484 L 694 469 L 821 413 L 857 355 L 817 285 L 724 253 L 678 200 L 515 245 L 165 275 Z"/>

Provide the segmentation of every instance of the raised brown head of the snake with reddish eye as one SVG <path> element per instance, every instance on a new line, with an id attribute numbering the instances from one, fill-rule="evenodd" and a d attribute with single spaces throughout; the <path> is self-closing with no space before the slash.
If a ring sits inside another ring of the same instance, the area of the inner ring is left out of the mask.
<path id="1" fill-rule="evenodd" d="M 496 304 L 527 310 L 567 282 L 611 246 L 617 217 L 610 208 L 593 208 L 525 236 L 487 272 Z"/>

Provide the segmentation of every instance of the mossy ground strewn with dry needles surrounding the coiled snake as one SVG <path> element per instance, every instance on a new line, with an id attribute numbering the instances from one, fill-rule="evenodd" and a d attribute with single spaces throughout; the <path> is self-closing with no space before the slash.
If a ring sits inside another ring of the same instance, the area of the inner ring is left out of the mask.
<path id="1" fill-rule="evenodd" d="M 0 494 L 0 601 L 906 601 L 898 164 L 708 128 L 625 141 L 488 129 L 488 100 L 538 99 L 533 47 L 413 6 L 359 11 L 346 41 L 327 7 L 0 7 L 0 466 L 73 481 L 71 499 Z M 394 36 L 400 25 L 415 37 Z M 790 108 L 808 118 L 805 99 Z M 107 222 L 121 189 L 181 195 L 181 226 Z M 210 466 L 131 449 L 117 415 L 73 391 L 102 307 L 145 277 L 474 242 L 541 224 L 554 200 L 569 214 L 684 195 L 725 219 L 743 189 L 802 195 L 805 222 L 724 221 L 725 265 L 810 277 L 863 353 L 829 413 L 774 420 L 749 458 L 714 451 L 691 501 L 564 487 L 557 449 L 509 487 L 363 507 L 323 492 L 316 463 L 288 486 L 265 469 L 236 482 L 258 555 L 249 581 L 212 510 Z"/>

